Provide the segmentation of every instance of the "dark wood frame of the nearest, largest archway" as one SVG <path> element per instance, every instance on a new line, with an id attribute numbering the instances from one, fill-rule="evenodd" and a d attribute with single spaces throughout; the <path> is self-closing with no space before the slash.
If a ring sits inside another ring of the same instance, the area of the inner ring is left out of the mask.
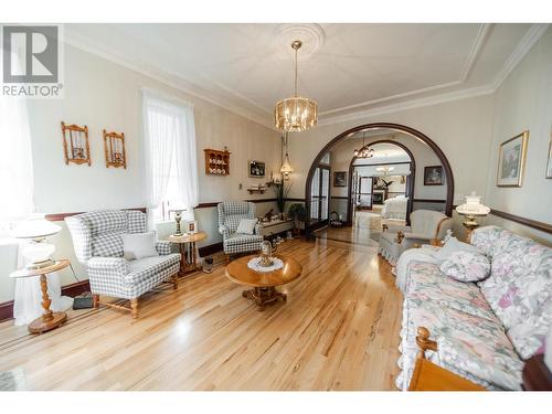
<path id="1" fill-rule="evenodd" d="M 312 161 L 312 164 L 310 166 L 309 172 L 307 174 L 307 181 L 305 183 L 305 197 L 306 197 L 306 209 L 307 209 L 307 223 L 306 223 L 306 230 L 307 233 L 311 231 L 311 223 L 310 223 L 310 205 L 311 205 L 311 181 L 312 181 L 312 176 L 315 174 L 315 171 L 317 167 L 320 164 L 320 161 L 322 157 L 339 141 L 352 136 L 355 132 L 363 131 L 363 130 L 371 130 L 371 129 L 391 129 L 400 132 L 404 132 L 407 136 L 413 137 L 413 139 L 420 139 L 421 141 L 425 142 L 437 156 L 439 159 L 445 177 L 447 180 L 447 192 L 446 192 L 446 203 L 445 203 L 445 213 L 447 215 L 453 214 L 453 200 L 454 200 L 454 176 L 453 176 L 453 170 L 450 168 L 450 164 L 445 156 L 445 153 L 442 151 L 442 149 L 425 134 L 411 128 L 405 125 L 401 124 L 392 124 L 392 123 L 372 123 L 372 124 L 364 124 L 364 125 L 359 125 L 354 128 L 350 128 L 337 137 L 335 137 L 332 140 L 330 140 L 317 155 L 315 160 Z"/>

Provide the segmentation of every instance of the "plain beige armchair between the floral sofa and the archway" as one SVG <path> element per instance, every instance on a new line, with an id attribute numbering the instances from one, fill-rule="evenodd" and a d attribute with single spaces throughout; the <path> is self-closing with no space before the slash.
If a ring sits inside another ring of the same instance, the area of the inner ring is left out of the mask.
<path id="1" fill-rule="evenodd" d="M 453 219 L 438 211 L 416 210 L 410 217 L 410 226 L 383 224 L 379 253 L 393 266 L 405 250 L 443 240 L 447 231 L 453 229 Z"/>

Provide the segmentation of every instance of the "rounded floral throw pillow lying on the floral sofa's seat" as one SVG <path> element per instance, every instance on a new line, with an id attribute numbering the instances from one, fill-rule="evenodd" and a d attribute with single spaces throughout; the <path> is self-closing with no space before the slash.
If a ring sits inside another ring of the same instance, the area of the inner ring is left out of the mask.
<path id="1" fill-rule="evenodd" d="M 458 282 L 479 282 L 490 275 L 490 262 L 477 252 L 458 251 L 445 258 L 439 270 Z"/>

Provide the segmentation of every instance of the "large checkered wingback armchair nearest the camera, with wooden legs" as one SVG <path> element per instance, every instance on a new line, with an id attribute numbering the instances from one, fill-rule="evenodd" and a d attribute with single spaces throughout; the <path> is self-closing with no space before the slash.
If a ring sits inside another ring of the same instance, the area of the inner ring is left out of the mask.
<path id="1" fill-rule="evenodd" d="M 75 255 L 88 273 L 94 307 L 100 304 L 99 295 L 130 300 L 130 310 L 138 317 L 138 298 L 163 282 L 178 287 L 180 255 L 171 254 L 169 242 L 156 242 L 159 256 L 127 261 L 123 257 L 125 233 L 145 233 L 146 214 L 141 211 L 95 211 L 65 219 L 73 238 Z"/>

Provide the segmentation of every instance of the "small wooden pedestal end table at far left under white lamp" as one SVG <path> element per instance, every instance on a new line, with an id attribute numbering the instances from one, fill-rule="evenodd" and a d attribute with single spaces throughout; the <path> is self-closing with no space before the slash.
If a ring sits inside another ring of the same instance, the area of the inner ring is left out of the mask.
<path id="1" fill-rule="evenodd" d="M 50 309 L 50 305 L 52 304 L 52 299 L 47 295 L 47 278 L 46 275 L 50 273 L 54 273 L 61 270 L 70 265 L 70 261 L 64 258 L 61 261 L 55 261 L 52 265 L 38 268 L 38 269 L 25 269 L 21 268 L 19 270 L 12 272 L 10 277 L 20 278 L 20 277 L 36 277 L 40 276 L 40 288 L 42 291 L 42 307 L 44 308 L 44 314 L 34 319 L 29 325 L 29 332 L 31 333 L 42 333 L 49 330 L 55 329 L 61 326 L 65 320 L 67 320 L 67 314 L 64 311 L 54 312 Z"/>

